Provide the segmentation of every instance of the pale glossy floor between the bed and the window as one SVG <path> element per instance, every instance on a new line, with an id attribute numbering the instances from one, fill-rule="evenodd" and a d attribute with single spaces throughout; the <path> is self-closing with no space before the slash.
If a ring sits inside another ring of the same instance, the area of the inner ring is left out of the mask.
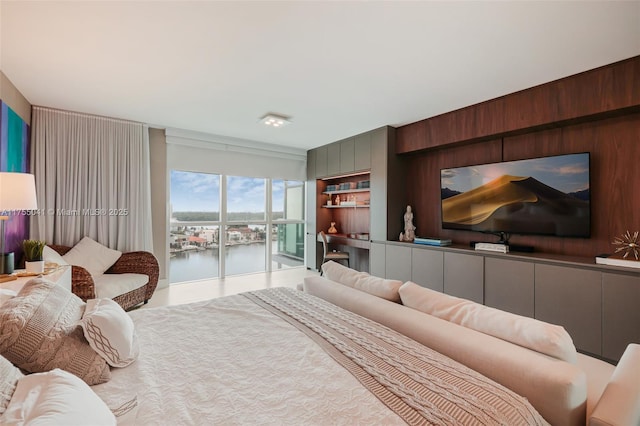
<path id="1" fill-rule="evenodd" d="M 261 288 L 295 288 L 304 280 L 304 277 L 310 275 L 319 275 L 319 273 L 310 271 L 305 267 L 299 267 L 260 274 L 236 275 L 224 279 L 172 284 L 156 290 L 149 303 L 144 305 L 142 309 L 157 306 L 181 305 L 237 294 L 243 291 L 259 290 Z"/>

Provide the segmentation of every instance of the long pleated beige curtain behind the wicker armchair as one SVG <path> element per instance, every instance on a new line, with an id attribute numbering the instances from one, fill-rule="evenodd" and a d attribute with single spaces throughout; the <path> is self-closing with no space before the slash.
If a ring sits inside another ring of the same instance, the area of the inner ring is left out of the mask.
<path id="1" fill-rule="evenodd" d="M 152 251 L 149 129 L 141 123 L 33 107 L 31 238 L 72 246 L 84 236 Z"/>

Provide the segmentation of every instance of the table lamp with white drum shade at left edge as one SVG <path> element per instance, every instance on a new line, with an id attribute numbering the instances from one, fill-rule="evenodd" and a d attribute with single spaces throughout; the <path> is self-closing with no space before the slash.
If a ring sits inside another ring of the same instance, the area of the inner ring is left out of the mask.
<path id="1" fill-rule="evenodd" d="M 5 253 L 5 225 L 12 212 L 35 210 L 36 182 L 32 174 L 0 172 L 0 274 L 13 272 L 13 253 Z"/>

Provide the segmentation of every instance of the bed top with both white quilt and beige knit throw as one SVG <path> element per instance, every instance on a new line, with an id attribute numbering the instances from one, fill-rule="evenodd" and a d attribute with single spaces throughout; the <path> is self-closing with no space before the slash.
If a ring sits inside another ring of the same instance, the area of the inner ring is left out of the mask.
<path id="1" fill-rule="evenodd" d="M 546 424 L 481 374 L 297 290 L 130 314 L 140 357 L 93 389 L 135 405 L 135 424 Z"/>

